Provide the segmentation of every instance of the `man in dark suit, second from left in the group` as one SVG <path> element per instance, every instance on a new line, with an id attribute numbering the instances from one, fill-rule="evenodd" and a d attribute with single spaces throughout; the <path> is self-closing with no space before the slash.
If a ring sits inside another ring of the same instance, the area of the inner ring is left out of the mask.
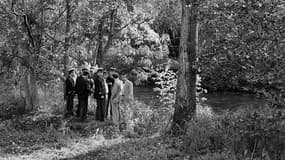
<path id="1" fill-rule="evenodd" d="M 77 78 L 75 85 L 75 91 L 78 96 L 76 116 L 84 121 L 87 118 L 88 96 L 91 93 L 91 86 L 88 80 L 88 69 L 83 69 L 82 72 L 82 75 Z"/>

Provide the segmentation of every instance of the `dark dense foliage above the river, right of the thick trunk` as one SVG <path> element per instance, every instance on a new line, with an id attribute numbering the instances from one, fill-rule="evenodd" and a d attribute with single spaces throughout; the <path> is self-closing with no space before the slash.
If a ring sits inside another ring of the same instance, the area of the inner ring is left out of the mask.
<path id="1" fill-rule="evenodd" d="M 257 92 L 277 86 L 284 75 L 284 2 L 213 1 L 202 12 L 204 87 Z"/>

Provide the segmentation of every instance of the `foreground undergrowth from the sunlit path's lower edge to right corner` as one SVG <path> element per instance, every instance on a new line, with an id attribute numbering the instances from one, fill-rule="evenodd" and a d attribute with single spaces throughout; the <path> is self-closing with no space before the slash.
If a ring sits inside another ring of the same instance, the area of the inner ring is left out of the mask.
<path id="1" fill-rule="evenodd" d="M 285 112 L 240 109 L 217 116 L 199 109 L 180 136 L 132 139 L 65 160 L 283 160 Z"/>

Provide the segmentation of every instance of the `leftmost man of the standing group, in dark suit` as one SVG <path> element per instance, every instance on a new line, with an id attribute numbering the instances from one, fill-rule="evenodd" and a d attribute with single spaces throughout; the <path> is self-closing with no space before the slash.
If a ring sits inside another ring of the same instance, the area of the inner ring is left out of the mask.
<path id="1" fill-rule="evenodd" d="M 73 99 L 75 95 L 75 70 L 70 68 L 68 70 L 68 77 L 65 80 L 64 99 L 66 100 L 65 116 L 73 116 Z"/>

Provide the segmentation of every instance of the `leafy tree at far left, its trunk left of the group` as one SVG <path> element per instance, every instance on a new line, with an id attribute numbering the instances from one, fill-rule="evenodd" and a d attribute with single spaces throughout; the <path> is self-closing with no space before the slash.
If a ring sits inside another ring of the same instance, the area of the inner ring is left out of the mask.
<path id="1" fill-rule="evenodd" d="M 52 43 L 46 33 L 58 21 L 57 15 L 49 15 L 57 4 L 55 1 L 25 0 L 0 3 L 1 34 L 6 37 L 1 44 L 1 60 L 8 59 L 17 66 L 13 72 L 20 77 L 18 84 L 26 110 L 38 107 L 38 82 L 47 73 L 55 71 L 52 49 L 56 46 L 50 46 Z"/>

